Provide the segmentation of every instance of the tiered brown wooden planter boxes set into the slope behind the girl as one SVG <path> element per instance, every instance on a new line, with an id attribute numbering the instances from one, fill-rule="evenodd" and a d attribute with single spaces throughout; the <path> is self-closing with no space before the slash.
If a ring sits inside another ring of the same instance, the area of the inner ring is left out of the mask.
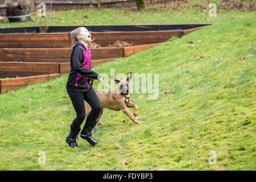
<path id="1" fill-rule="evenodd" d="M 102 48 L 90 48 L 91 67 L 126 57 L 158 46 L 172 36 L 180 38 L 205 26 L 182 31 L 130 31 L 92 32 L 92 38 Z M 117 40 L 132 44 L 145 44 L 125 48 L 106 48 Z M 0 77 L 16 77 L 0 80 L 0 92 L 47 81 L 70 71 L 72 52 L 69 33 L 50 34 L 0 34 Z M 14 62 L 22 61 L 22 62 Z M 27 63 L 29 62 L 29 63 Z M 47 75 L 45 75 L 47 74 Z"/>

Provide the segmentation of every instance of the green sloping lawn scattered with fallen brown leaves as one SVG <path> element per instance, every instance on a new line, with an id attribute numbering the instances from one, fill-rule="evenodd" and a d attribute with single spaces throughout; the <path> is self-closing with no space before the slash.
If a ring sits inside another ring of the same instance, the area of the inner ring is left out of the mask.
<path id="1" fill-rule="evenodd" d="M 82 139 L 77 148 L 65 143 L 76 115 L 71 100 L 63 98 L 68 75 L 0 94 L 1 170 L 256 169 L 255 12 L 223 10 L 217 18 L 193 9 L 170 14 L 122 9 L 67 12 L 57 12 L 52 23 L 63 16 L 64 24 L 76 24 L 68 16 L 84 12 L 90 19 L 83 23 L 88 25 L 215 25 L 93 68 L 108 75 L 110 68 L 115 74 L 159 73 L 158 99 L 148 100 L 148 93 L 130 94 L 131 102 L 139 106 L 142 125 L 135 125 L 122 111 L 105 109 L 101 118 L 105 125 L 94 134 L 96 147 Z M 28 25 L 32 24 L 23 23 Z M 195 41 L 193 47 L 189 41 Z M 49 92 L 41 92 L 44 89 Z M 172 92 L 164 94 L 166 90 Z M 38 164 L 39 151 L 46 152 L 44 166 Z M 216 152 L 216 164 L 208 163 L 211 152 Z M 130 163 L 122 165 L 122 160 Z"/>

